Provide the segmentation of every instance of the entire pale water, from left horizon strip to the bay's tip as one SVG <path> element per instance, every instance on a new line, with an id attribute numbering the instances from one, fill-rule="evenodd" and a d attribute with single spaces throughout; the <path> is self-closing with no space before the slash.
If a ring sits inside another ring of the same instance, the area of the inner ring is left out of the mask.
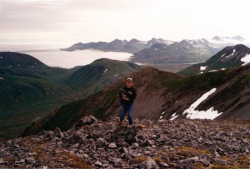
<path id="1" fill-rule="evenodd" d="M 92 63 L 96 59 L 109 58 L 112 60 L 128 61 L 131 53 L 102 52 L 98 50 L 61 51 L 51 49 L 48 45 L 4 45 L 0 44 L 0 51 L 19 52 L 31 55 L 50 67 L 73 68 Z"/>

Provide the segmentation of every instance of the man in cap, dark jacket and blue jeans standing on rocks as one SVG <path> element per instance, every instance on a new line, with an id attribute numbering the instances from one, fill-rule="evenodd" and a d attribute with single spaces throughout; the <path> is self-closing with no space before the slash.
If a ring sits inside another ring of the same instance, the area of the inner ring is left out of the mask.
<path id="1" fill-rule="evenodd" d="M 121 88 L 119 92 L 120 102 L 121 102 L 121 116 L 118 125 L 122 124 L 126 113 L 128 112 L 129 126 L 133 125 L 133 103 L 136 98 L 136 90 L 132 86 L 132 78 L 127 78 L 126 86 Z"/>

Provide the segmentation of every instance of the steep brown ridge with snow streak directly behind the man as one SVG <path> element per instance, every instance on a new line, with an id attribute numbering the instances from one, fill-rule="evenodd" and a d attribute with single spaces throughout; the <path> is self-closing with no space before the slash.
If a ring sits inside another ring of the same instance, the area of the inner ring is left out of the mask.
<path id="1" fill-rule="evenodd" d="M 241 66 L 218 72 L 182 77 L 174 73 L 163 72 L 145 67 L 130 75 L 138 96 L 134 103 L 134 117 L 139 119 L 183 119 L 194 110 L 204 110 L 206 118 L 229 119 L 249 117 L 250 106 L 250 66 Z M 120 104 L 118 91 L 125 79 L 109 86 L 106 90 L 78 100 L 54 110 L 49 116 L 33 123 L 23 135 L 41 130 L 54 130 L 60 127 L 69 129 L 79 118 L 94 115 L 98 119 L 108 120 L 119 116 Z M 214 92 L 201 103 L 189 110 L 203 94 L 211 89 Z M 210 108 L 217 110 L 212 116 Z M 201 113 L 201 112 L 198 112 Z"/>

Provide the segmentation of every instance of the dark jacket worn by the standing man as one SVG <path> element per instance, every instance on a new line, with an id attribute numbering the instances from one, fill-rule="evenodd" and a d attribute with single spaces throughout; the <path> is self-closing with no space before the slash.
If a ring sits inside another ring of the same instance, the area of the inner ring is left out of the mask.
<path id="1" fill-rule="evenodd" d="M 129 99 L 129 101 L 123 100 L 122 94 L 125 94 L 126 97 Z M 127 88 L 127 86 L 124 86 L 123 88 L 121 88 L 119 92 L 119 97 L 120 97 L 121 104 L 124 104 L 124 105 L 133 104 L 136 98 L 136 90 L 133 86 L 131 86 L 130 88 Z"/>

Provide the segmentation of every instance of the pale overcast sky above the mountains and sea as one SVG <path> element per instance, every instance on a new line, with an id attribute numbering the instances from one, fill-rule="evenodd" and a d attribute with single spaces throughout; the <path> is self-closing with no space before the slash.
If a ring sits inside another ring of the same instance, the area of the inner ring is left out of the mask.
<path id="1" fill-rule="evenodd" d="M 1 44 L 237 36 L 250 39 L 250 0 L 0 0 Z"/>

